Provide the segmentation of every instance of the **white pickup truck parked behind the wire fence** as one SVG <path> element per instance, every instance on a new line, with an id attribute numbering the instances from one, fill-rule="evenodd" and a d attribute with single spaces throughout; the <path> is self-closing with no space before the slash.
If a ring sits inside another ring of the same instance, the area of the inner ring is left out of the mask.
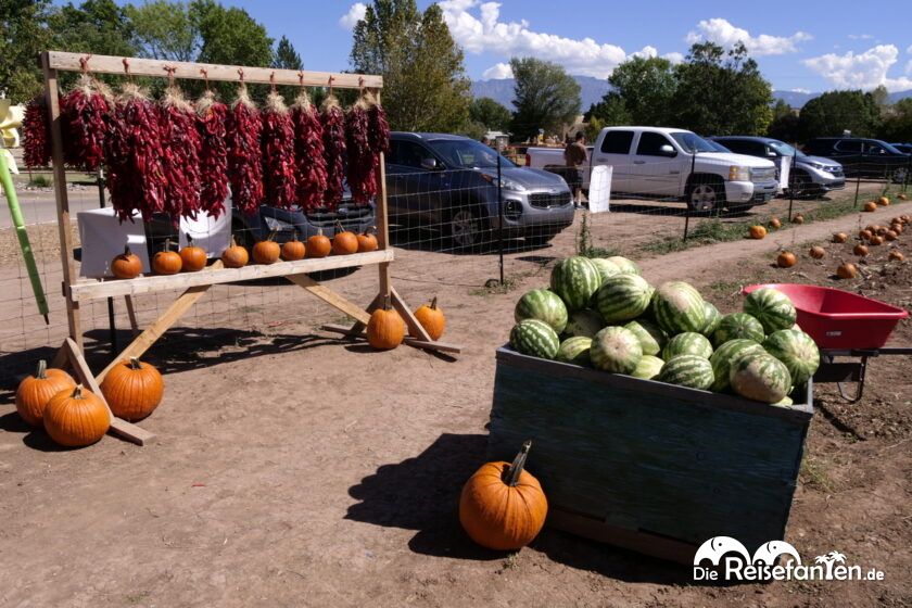
<path id="1" fill-rule="evenodd" d="M 563 150 L 530 148 L 525 165 L 563 174 Z M 593 166 L 610 165 L 611 193 L 673 198 L 691 210 L 738 208 L 770 201 L 778 188 L 776 167 L 765 159 L 720 152 L 694 132 L 661 127 L 608 127 L 581 167 L 588 190 Z"/>

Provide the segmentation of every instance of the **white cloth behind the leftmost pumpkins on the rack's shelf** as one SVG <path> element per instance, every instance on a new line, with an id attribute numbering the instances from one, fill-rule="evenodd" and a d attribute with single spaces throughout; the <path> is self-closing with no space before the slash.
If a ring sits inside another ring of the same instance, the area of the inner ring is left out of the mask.
<path id="1" fill-rule="evenodd" d="M 124 245 L 142 261 L 142 271 L 149 271 L 149 252 L 145 250 L 145 229 L 137 212 L 132 221 L 121 224 L 112 207 L 80 211 L 79 242 L 83 243 L 80 277 L 112 277 L 111 261 L 124 253 Z"/>

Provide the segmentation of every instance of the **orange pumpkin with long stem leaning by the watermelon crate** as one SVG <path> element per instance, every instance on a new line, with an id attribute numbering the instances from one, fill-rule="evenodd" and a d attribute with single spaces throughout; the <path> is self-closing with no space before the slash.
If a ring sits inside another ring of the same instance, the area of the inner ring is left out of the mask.
<path id="1" fill-rule="evenodd" d="M 512 464 L 487 463 L 469 478 L 459 497 L 459 522 L 484 547 L 514 550 L 532 542 L 548 514 L 539 480 L 522 470 L 531 441 Z"/>

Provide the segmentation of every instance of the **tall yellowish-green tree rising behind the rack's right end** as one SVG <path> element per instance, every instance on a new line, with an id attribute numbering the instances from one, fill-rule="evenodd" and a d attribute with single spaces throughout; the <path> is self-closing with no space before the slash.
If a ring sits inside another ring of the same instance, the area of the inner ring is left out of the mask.
<path id="1" fill-rule="evenodd" d="M 443 11 L 415 0 L 375 0 L 355 25 L 352 67 L 383 76 L 383 106 L 398 130 L 457 131 L 469 116 L 463 51 Z"/>

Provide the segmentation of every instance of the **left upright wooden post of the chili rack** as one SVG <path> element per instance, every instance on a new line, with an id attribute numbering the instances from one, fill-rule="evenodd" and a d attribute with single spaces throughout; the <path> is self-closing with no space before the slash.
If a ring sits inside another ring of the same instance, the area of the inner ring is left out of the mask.
<path id="1" fill-rule="evenodd" d="M 69 198 L 66 193 L 66 167 L 63 163 L 63 129 L 60 122 L 60 96 L 58 74 L 50 64 L 48 53 L 41 53 L 45 72 L 45 99 L 51 126 L 51 164 L 54 169 L 54 200 L 58 212 L 58 235 L 60 258 L 63 269 L 63 296 L 66 299 L 66 322 L 69 337 L 83 346 L 83 330 L 79 322 L 79 304 L 73 301 L 69 287 L 75 281 L 76 266 L 73 261 L 73 224 L 69 221 Z"/>

